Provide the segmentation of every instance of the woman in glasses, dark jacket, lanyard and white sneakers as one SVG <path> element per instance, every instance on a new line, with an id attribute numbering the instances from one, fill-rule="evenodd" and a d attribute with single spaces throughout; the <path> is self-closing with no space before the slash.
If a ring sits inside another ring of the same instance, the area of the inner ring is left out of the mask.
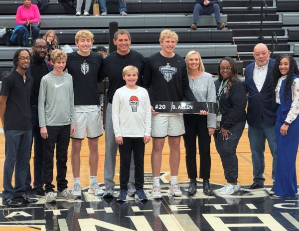
<path id="1" fill-rule="evenodd" d="M 246 123 L 246 91 L 238 77 L 235 61 L 223 58 L 218 65 L 215 82 L 218 112 L 214 140 L 220 155 L 227 185 L 219 189 L 222 195 L 232 195 L 241 190 L 238 184 L 237 145 Z"/>

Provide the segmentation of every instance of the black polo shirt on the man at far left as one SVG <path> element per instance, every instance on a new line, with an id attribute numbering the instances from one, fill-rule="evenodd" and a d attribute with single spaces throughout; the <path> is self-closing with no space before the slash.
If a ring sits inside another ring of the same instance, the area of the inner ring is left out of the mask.
<path id="1" fill-rule="evenodd" d="M 6 110 L 4 113 L 5 130 L 30 130 L 31 109 L 30 95 L 33 86 L 33 78 L 23 76 L 14 69 L 2 80 L 0 95 L 7 96 Z"/>

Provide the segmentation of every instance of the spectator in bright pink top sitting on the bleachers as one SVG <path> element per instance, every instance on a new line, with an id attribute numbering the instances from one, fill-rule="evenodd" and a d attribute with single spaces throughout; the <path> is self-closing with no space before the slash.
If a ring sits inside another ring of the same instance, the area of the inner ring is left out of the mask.
<path id="1" fill-rule="evenodd" d="M 23 35 L 25 34 L 25 29 L 30 31 L 30 26 L 32 41 L 39 37 L 40 14 L 37 5 L 31 4 L 31 0 L 23 0 L 23 5 L 17 7 L 15 21 L 16 24 L 26 27 L 20 27 L 16 32 L 16 43 L 18 46 L 26 45 L 24 44 Z"/>

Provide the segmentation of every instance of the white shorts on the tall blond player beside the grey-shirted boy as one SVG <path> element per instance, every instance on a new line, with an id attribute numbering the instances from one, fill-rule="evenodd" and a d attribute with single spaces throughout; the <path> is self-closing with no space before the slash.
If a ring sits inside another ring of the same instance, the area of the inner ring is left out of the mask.
<path id="1" fill-rule="evenodd" d="M 80 109 L 84 105 L 79 106 Z M 96 106 L 96 110 L 90 111 L 90 105 L 86 105 L 87 111 L 76 111 L 75 106 L 75 126 L 76 131 L 71 138 L 84 140 L 85 134 L 87 138 L 93 139 L 103 135 L 101 107 Z"/>

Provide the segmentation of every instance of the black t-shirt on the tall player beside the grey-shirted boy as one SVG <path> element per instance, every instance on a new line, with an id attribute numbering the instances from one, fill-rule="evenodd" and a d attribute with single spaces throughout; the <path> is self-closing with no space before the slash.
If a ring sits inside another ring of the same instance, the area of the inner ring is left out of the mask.
<path id="1" fill-rule="evenodd" d="M 73 76 L 75 105 L 99 105 L 98 81 L 101 80 L 103 58 L 99 53 L 90 52 L 81 56 L 77 51 L 67 55 L 66 68 Z"/>

